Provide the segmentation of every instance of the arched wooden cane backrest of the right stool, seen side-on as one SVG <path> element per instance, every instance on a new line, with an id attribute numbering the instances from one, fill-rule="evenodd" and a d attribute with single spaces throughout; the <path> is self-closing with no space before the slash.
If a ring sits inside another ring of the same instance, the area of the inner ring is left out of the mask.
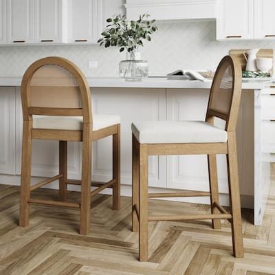
<path id="1" fill-rule="evenodd" d="M 213 117 L 225 120 L 225 130 L 235 131 L 241 100 L 241 65 L 231 56 L 225 56 L 214 75 L 206 121 Z"/>

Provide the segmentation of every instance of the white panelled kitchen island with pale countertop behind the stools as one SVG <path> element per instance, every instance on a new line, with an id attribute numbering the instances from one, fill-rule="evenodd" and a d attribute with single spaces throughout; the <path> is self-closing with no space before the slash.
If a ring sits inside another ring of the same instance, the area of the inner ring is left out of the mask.
<path id="1" fill-rule="evenodd" d="M 148 78 L 126 82 L 121 78 L 88 78 L 94 113 L 121 116 L 122 195 L 131 195 L 131 122 L 137 120 L 204 120 L 211 82 Z M 21 78 L 0 78 L 0 182 L 19 184 L 21 173 L 22 113 Z M 272 110 L 275 89 L 270 81 L 243 83 L 237 126 L 241 203 L 254 208 L 254 224 L 261 225 L 270 187 L 274 127 Z M 273 101 L 272 101 L 273 100 Z M 274 111 L 273 111 L 274 112 Z M 221 126 L 221 122 L 217 122 Z M 275 131 L 274 131 L 275 132 Z M 275 133 L 274 133 L 275 134 Z M 41 143 L 43 145 L 41 146 Z M 58 172 L 58 143 L 34 141 L 32 176 L 52 177 Z M 100 140 L 93 148 L 93 180 L 111 178 L 111 140 Z M 274 146 L 275 147 L 275 146 Z M 69 177 L 80 178 L 81 144 L 69 143 Z M 228 181 L 224 155 L 218 155 L 221 204 L 228 205 Z M 149 186 L 175 190 L 208 190 L 205 155 L 152 156 L 149 158 Z M 50 187 L 55 188 L 56 184 Z M 76 186 L 72 186 L 76 190 Z M 209 203 L 208 198 L 177 199 Z"/>

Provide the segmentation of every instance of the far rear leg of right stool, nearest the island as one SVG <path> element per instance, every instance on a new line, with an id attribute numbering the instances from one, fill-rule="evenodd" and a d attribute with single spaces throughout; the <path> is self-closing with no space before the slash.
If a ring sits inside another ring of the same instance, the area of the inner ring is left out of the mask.
<path id="1" fill-rule="evenodd" d="M 213 203 L 219 203 L 219 185 L 217 175 L 217 159 L 216 155 L 208 155 L 208 171 L 209 171 L 209 184 L 210 184 L 210 201 L 211 201 L 211 212 L 212 214 L 219 214 L 219 210 L 213 207 Z M 220 229 L 221 220 L 212 219 L 212 228 Z"/>

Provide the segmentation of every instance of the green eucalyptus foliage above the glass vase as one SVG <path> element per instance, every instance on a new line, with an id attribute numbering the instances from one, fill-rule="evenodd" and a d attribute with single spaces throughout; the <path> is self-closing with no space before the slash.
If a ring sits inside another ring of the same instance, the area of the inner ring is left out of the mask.
<path id="1" fill-rule="evenodd" d="M 108 25 L 98 43 L 104 47 L 120 47 L 120 52 L 133 52 L 143 47 L 142 41 L 151 41 L 151 34 L 157 31 L 155 20 L 148 20 L 148 17 L 149 14 L 143 14 L 137 21 L 126 21 L 125 15 L 119 14 L 107 19 Z"/>

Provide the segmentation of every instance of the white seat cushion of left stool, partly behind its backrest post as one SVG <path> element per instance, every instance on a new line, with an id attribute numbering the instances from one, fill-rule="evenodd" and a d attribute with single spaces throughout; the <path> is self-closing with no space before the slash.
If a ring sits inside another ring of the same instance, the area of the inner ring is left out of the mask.
<path id="1" fill-rule="evenodd" d="M 119 115 L 93 114 L 93 131 L 120 123 Z M 83 129 L 82 116 L 33 115 L 34 129 L 74 130 Z"/>

